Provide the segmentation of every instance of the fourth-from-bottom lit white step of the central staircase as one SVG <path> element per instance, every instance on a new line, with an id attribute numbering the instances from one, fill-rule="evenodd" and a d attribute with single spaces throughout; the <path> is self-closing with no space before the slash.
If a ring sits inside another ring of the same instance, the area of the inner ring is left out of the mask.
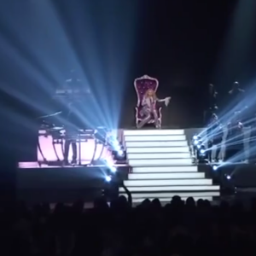
<path id="1" fill-rule="evenodd" d="M 169 173 L 130 173 L 129 180 L 171 179 L 171 178 L 204 178 L 204 172 L 169 172 Z"/>

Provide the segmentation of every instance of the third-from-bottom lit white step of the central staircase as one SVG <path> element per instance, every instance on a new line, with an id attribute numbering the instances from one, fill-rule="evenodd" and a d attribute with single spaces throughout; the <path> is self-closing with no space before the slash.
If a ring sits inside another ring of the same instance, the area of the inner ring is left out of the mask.
<path id="1" fill-rule="evenodd" d="M 125 186 L 128 187 L 149 187 L 149 186 L 196 186 L 212 185 L 210 178 L 183 178 L 183 179 L 154 179 L 154 180 L 125 180 Z"/>

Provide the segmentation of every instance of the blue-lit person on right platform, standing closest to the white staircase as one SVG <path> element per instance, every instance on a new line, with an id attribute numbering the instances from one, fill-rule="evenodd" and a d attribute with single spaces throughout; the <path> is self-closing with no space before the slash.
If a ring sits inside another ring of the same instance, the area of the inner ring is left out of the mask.
<path id="1" fill-rule="evenodd" d="M 216 113 L 212 113 L 212 119 L 207 128 L 208 148 L 210 148 L 208 150 L 208 159 L 210 162 L 212 162 L 212 153 L 214 153 L 214 160 L 218 162 L 223 136 L 224 132 L 222 125 L 218 121 L 218 116 Z"/>

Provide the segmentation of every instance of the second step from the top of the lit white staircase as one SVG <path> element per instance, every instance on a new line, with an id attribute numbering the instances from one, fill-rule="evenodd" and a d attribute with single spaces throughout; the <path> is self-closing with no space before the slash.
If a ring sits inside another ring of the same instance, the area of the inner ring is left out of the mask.
<path id="1" fill-rule="evenodd" d="M 125 142 L 177 142 L 185 140 L 185 135 L 125 136 Z"/>

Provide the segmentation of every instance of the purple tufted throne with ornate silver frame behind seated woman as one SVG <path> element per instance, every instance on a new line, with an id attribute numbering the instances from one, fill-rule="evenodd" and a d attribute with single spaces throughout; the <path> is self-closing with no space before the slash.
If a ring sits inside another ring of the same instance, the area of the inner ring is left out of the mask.
<path id="1" fill-rule="evenodd" d="M 143 96 L 145 95 L 145 93 L 148 89 L 152 89 L 155 92 L 157 91 L 157 89 L 158 89 L 158 80 L 150 78 L 150 77 L 148 77 L 148 75 L 144 75 L 143 77 L 134 80 L 134 88 L 137 92 L 137 106 L 135 108 L 135 111 L 136 111 L 135 119 L 136 119 L 136 125 L 138 125 L 138 123 L 143 118 L 145 118 L 141 114 L 141 110 L 143 108 L 143 106 L 142 106 Z M 156 108 L 157 108 L 159 123 L 161 125 L 161 119 L 162 119 L 161 109 L 162 108 L 159 107 L 159 106 L 156 106 Z M 150 119 L 148 124 L 153 124 L 153 123 L 154 123 L 154 117 L 152 117 L 152 119 Z"/>

